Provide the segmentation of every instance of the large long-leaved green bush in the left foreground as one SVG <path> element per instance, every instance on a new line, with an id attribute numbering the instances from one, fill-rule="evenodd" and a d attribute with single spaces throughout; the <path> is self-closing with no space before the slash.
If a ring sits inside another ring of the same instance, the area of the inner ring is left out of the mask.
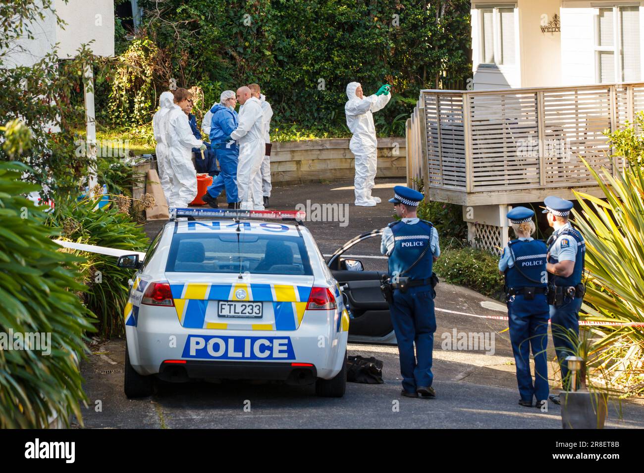
<path id="1" fill-rule="evenodd" d="M 14 348 L 11 331 L 43 334 L 40 348 L 51 337 L 51 353 L 0 349 L 0 428 L 43 428 L 54 415 L 65 425 L 72 414 L 82 423 L 79 400 L 86 400 L 78 363 L 93 326 L 73 268 L 82 260 L 59 251 L 50 239 L 56 230 L 21 196 L 39 190 L 21 180 L 27 171 L 0 162 L 0 332 Z"/>

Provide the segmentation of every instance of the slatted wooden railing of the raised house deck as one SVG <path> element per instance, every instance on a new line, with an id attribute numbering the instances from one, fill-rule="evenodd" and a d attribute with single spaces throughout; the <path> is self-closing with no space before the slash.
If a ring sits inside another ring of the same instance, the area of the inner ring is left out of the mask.
<path id="1" fill-rule="evenodd" d="M 604 131 L 643 109 L 644 83 L 423 90 L 407 120 L 408 185 L 422 178 L 443 197 L 592 187 L 580 158 L 618 172 Z"/>

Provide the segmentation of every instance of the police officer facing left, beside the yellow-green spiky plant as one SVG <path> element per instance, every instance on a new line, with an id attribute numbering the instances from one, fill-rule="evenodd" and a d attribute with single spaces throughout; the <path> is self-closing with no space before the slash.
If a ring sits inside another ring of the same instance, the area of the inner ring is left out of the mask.
<path id="1" fill-rule="evenodd" d="M 554 349 L 561 366 L 564 391 L 570 391 L 571 380 L 565 358 L 574 355 L 573 340 L 579 335 L 579 310 L 582 307 L 585 285 L 582 283 L 586 244 L 582 234 L 574 229 L 568 217 L 573 209 L 569 200 L 550 196 L 544 200 L 548 225 L 554 233 L 548 239 L 548 285 L 550 322 Z M 559 396 L 550 400 L 560 403 Z"/>

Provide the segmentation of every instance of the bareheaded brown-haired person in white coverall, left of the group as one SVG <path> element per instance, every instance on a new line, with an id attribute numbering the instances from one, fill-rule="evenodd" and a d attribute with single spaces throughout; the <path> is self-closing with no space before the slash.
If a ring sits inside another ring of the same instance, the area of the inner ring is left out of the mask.
<path id="1" fill-rule="evenodd" d="M 170 150 L 170 185 L 168 207 L 188 207 L 197 195 L 197 173 L 192 149 L 205 149 L 204 142 L 194 138 L 187 111 L 192 108 L 192 94 L 186 89 L 175 91 L 175 99 L 167 118 L 167 139 Z"/>

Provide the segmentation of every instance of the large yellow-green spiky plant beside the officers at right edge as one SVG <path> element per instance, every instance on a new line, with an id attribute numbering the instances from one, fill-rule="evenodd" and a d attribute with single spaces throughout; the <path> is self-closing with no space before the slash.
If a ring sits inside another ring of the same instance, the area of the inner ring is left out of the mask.
<path id="1" fill-rule="evenodd" d="M 584 162 L 606 201 L 574 192 L 575 223 L 586 240 L 587 320 L 644 324 L 644 175 L 627 167 L 601 176 Z M 596 326 L 594 365 L 628 393 L 644 392 L 644 326 Z"/>

